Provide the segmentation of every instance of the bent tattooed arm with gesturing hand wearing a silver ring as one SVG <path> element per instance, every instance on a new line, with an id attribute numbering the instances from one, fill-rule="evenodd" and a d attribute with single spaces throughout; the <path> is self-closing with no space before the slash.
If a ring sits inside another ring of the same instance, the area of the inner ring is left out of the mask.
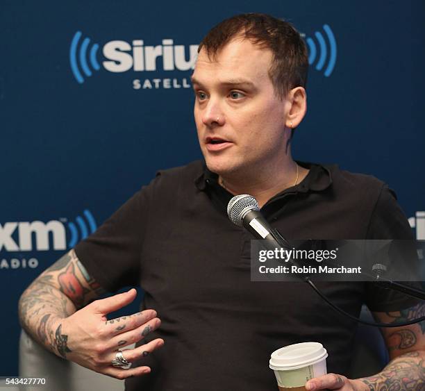
<path id="1" fill-rule="evenodd" d="M 131 303 L 136 291 L 95 300 L 102 292 L 71 250 L 22 294 L 22 327 L 56 355 L 96 372 L 120 379 L 149 373 L 149 367 L 123 370 L 113 367 L 111 361 L 120 347 L 142 340 L 160 326 L 156 311 L 144 310 L 108 320 L 106 315 Z M 163 344 L 163 340 L 157 339 L 128 349 L 125 358 L 131 363 Z"/>

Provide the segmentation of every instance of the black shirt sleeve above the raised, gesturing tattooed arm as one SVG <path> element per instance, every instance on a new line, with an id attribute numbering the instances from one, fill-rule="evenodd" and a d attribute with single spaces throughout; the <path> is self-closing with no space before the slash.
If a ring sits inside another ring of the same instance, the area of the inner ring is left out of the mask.
<path id="1" fill-rule="evenodd" d="M 136 192 L 74 249 L 90 276 L 109 292 L 139 283 L 151 187 L 152 183 Z"/>

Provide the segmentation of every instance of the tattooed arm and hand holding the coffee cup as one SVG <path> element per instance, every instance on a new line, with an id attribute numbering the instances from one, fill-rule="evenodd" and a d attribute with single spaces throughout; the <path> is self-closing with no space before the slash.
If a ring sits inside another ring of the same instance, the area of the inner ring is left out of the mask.
<path id="1" fill-rule="evenodd" d="M 380 322 L 406 322 L 425 315 L 425 304 L 394 313 L 374 313 Z M 391 361 L 378 374 L 351 380 L 327 374 L 306 383 L 306 390 L 425 391 L 425 322 L 406 327 L 382 328 Z"/>

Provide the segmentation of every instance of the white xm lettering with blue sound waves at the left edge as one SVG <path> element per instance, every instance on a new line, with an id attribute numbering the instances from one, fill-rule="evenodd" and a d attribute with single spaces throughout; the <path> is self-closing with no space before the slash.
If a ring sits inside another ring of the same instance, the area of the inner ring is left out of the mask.
<path id="1" fill-rule="evenodd" d="M 0 224 L 0 251 L 48 251 L 65 250 L 76 245 L 78 240 L 88 237 L 96 231 L 96 222 L 90 210 L 84 210 L 83 215 L 77 216 L 74 222 L 68 222 L 69 240 L 63 222 L 7 222 Z M 78 228 L 77 228 L 78 227 Z M 51 239 L 51 240 L 50 240 Z"/>

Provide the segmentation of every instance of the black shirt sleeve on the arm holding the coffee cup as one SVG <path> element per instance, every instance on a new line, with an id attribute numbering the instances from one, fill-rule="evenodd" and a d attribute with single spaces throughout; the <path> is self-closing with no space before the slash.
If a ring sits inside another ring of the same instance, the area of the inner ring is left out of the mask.
<path id="1" fill-rule="evenodd" d="M 393 190 L 383 184 L 369 222 L 367 239 L 412 240 L 412 228 L 397 203 Z M 415 306 L 418 303 L 406 294 L 367 283 L 366 304 L 371 311 L 390 312 Z"/>

